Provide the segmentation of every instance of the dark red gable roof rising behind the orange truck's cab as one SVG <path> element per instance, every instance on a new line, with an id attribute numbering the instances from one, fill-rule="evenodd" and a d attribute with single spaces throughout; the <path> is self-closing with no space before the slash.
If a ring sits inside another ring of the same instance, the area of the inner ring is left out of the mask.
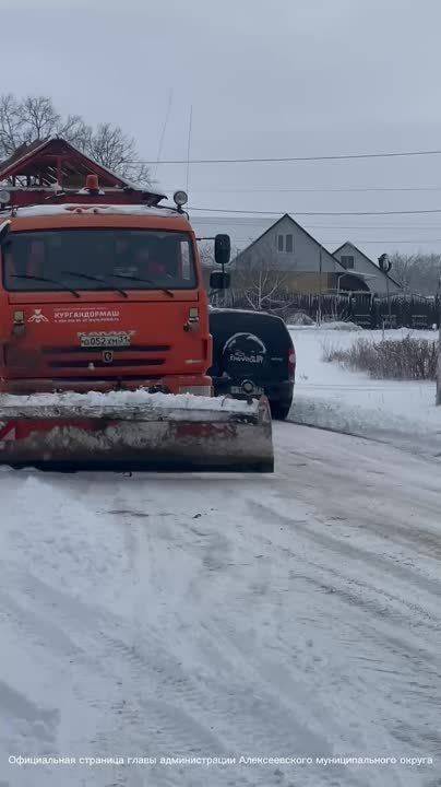
<path id="1" fill-rule="evenodd" d="M 61 167 L 63 176 L 84 177 L 93 173 L 98 175 L 104 187 L 120 189 L 138 189 L 121 175 L 117 175 L 103 164 L 91 158 L 73 144 L 61 137 L 47 137 L 21 145 L 9 158 L 0 164 L 0 181 L 13 177 L 40 176 L 46 185 L 57 180 L 57 169 Z M 145 189 L 152 196 L 164 198 L 164 195 Z"/>

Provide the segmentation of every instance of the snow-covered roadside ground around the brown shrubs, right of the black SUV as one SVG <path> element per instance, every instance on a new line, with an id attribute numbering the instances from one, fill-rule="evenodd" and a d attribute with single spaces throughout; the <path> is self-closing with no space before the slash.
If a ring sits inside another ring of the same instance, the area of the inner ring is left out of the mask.
<path id="1" fill-rule="evenodd" d="M 297 423 L 379 437 L 397 445 L 417 444 L 441 451 L 441 409 L 434 383 L 377 380 L 322 360 L 326 346 L 350 346 L 358 339 L 382 338 L 382 331 L 291 328 L 297 352 L 297 384 L 290 418 Z M 434 331 L 385 331 L 385 338 L 410 333 L 437 340 Z"/>

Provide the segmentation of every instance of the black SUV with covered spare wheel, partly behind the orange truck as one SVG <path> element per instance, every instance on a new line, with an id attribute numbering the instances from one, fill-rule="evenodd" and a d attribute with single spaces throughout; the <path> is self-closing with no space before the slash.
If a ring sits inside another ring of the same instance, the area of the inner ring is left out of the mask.
<path id="1" fill-rule="evenodd" d="M 216 396 L 265 393 L 275 419 L 286 419 L 293 401 L 296 354 L 281 317 L 266 312 L 211 308 L 213 378 Z"/>

